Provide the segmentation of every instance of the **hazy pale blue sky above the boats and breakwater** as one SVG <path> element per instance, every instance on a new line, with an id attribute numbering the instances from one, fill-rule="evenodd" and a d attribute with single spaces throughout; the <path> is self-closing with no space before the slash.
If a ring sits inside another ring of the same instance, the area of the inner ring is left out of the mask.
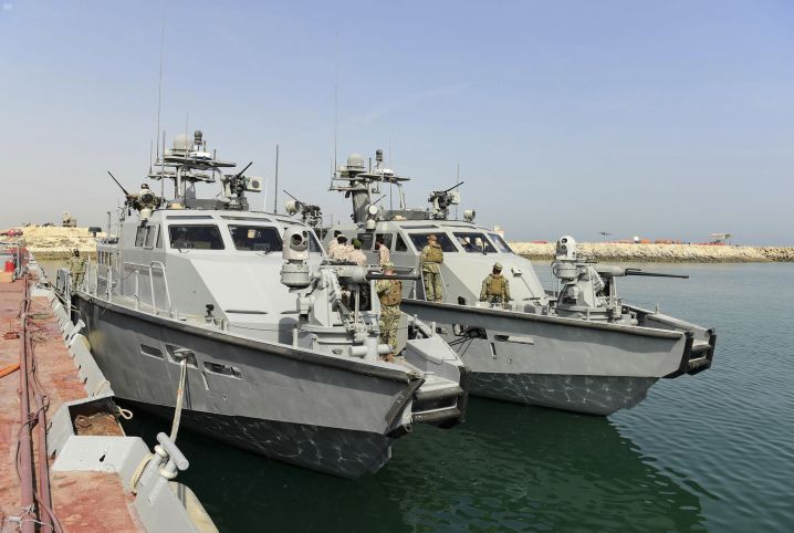
<path id="1" fill-rule="evenodd" d="M 0 227 L 104 224 L 156 136 L 164 3 L 0 0 Z M 388 153 L 515 240 L 794 244 L 794 2 L 165 3 L 161 128 L 348 213 L 338 158 Z M 280 203 L 284 195 L 280 195 Z M 268 208 L 272 209 L 272 190 Z M 253 200 L 261 206 L 261 199 Z"/>

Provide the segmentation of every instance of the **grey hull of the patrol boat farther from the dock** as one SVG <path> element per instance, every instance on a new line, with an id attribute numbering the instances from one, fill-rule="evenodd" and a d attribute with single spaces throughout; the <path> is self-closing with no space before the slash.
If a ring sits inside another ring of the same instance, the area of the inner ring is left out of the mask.
<path id="1" fill-rule="evenodd" d="M 404 300 L 435 322 L 469 368 L 469 391 L 519 404 L 610 415 L 664 377 L 711 365 L 712 331 L 634 309 L 645 326 Z"/>

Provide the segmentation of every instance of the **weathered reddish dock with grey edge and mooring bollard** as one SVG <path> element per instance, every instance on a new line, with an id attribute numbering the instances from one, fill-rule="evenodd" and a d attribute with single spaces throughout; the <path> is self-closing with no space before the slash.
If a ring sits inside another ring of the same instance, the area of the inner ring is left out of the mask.
<path id="1" fill-rule="evenodd" d="M 187 459 L 165 433 L 128 437 L 85 337 L 43 271 L 0 283 L 0 522 L 22 532 L 217 532 L 174 481 Z M 165 426 L 164 426 L 165 427 Z M 15 531 L 15 530 L 14 530 Z"/>

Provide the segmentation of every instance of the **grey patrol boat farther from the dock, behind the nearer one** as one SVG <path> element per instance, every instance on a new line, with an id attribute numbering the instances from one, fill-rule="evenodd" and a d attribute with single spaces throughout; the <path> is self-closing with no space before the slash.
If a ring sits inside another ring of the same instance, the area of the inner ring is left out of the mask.
<path id="1" fill-rule="evenodd" d="M 421 282 L 405 284 L 403 311 L 432 322 L 458 351 L 470 370 L 471 394 L 609 415 L 637 405 L 659 378 L 711 366 L 713 330 L 617 295 L 617 278 L 665 274 L 585 261 L 575 240 L 563 237 L 553 264 L 557 289 L 545 291 L 532 263 L 494 231 L 476 224 L 474 211 L 451 219 L 450 207 L 460 202 L 455 187 L 432 191 L 430 208 L 408 208 L 403 190 L 408 179 L 385 168 L 380 150 L 374 167 L 352 155 L 332 178 L 331 190 L 351 199 L 353 222 L 330 228 L 325 240 L 341 231 L 359 239 L 375 260 L 376 239 L 383 238 L 398 272 L 420 275 L 428 236 L 438 238 L 443 300 L 426 301 Z M 384 206 L 390 188 L 396 188 L 395 208 Z M 483 278 L 497 261 L 512 296 L 499 305 L 480 301 Z"/>

